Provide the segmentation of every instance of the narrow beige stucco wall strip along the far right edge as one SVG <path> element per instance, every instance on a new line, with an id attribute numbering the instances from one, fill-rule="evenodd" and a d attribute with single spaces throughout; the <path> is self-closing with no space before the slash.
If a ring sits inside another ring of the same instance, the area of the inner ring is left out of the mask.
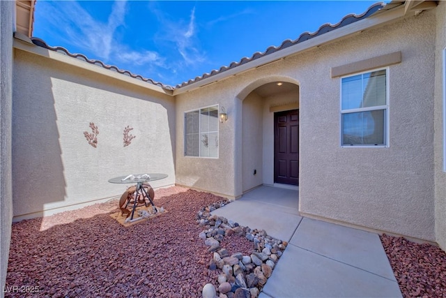
<path id="1" fill-rule="evenodd" d="M 435 77 L 435 233 L 436 241 L 446 251 L 446 173 L 443 171 L 443 149 L 445 140 L 443 138 L 443 49 L 446 48 L 446 3 L 440 1 L 437 10 L 436 27 L 436 77 Z"/>

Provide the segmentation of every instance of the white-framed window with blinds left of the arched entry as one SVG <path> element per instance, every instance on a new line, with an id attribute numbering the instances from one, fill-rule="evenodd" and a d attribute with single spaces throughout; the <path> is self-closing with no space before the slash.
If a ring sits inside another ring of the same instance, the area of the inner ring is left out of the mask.
<path id="1" fill-rule="evenodd" d="M 218 158 L 218 105 L 185 113 L 185 156 Z"/>

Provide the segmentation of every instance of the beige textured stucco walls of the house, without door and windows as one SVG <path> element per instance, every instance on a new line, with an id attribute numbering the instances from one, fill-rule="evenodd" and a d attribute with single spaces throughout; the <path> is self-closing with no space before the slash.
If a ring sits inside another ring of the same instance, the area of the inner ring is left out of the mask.
<path id="1" fill-rule="evenodd" d="M 10 58 L 3 53 L 1 12 L 3 67 L 3 59 Z M 445 4 L 440 2 L 435 10 L 175 97 L 15 50 L 14 215 L 38 216 L 43 210 L 114 197 L 125 185 L 107 180 L 138 172 L 169 174 L 154 182 L 155 187 L 176 183 L 230 198 L 259 184 L 273 184 L 270 107 L 297 100 L 300 212 L 438 241 L 445 248 L 443 75 L 438 67 L 446 46 L 445 20 Z M 401 63 L 388 67 L 389 146 L 342 148 L 340 78 L 332 78 L 330 70 L 399 51 Z M 257 87 L 275 81 L 297 84 L 299 93 L 270 98 L 255 93 Z M 184 156 L 185 112 L 210 105 L 225 107 L 228 114 L 228 120 L 219 123 L 219 157 Z M 3 130 L 3 114 L 1 119 Z M 89 122 L 99 128 L 98 148 L 85 140 Z M 137 138 L 123 147 L 128 125 Z M 3 159 L 1 167 L 3 187 Z"/>

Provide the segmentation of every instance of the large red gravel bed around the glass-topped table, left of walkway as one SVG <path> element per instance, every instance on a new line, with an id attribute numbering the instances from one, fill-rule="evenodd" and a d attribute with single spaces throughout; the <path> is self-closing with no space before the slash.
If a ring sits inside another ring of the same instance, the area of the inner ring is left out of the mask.
<path id="1" fill-rule="evenodd" d="M 38 294 L 5 297 L 201 297 L 219 271 L 207 269 L 212 253 L 196 215 L 221 200 L 176 186 L 155 192 L 166 214 L 128 228 L 109 216 L 117 200 L 13 223 L 6 287 Z M 231 252 L 253 248 L 236 235 L 224 244 Z"/>

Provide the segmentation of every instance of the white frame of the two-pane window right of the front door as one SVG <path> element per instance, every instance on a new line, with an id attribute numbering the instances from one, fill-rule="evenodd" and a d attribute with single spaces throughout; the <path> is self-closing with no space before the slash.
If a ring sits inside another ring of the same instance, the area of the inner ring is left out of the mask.
<path id="1" fill-rule="evenodd" d="M 378 105 L 375 107 L 360 107 L 357 109 L 348 109 L 348 112 L 363 112 L 363 111 L 372 111 L 372 110 L 386 110 L 385 113 L 385 121 L 386 121 L 386 127 L 385 127 L 385 145 L 343 145 L 342 144 L 342 79 L 344 77 L 353 77 L 353 75 L 363 75 L 364 73 L 371 73 L 373 71 L 377 70 L 385 70 L 385 96 L 387 105 Z M 344 75 L 342 77 L 339 77 L 339 144 L 341 148 L 388 148 L 390 147 L 390 85 L 389 85 L 389 77 L 390 77 L 390 68 L 387 67 L 380 67 L 380 68 L 374 68 L 371 70 L 362 71 L 360 73 L 351 73 L 349 75 Z"/>

